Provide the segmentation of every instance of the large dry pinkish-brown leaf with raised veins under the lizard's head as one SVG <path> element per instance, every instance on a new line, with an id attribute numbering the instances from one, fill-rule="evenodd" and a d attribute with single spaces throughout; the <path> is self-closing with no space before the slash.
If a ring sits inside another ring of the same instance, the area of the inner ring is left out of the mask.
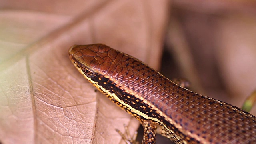
<path id="1" fill-rule="evenodd" d="M 159 68 L 168 0 L 1 1 L 0 142 L 118 143 L 138 122 L 72 66 L 73 44 L 105 43 Z"/>

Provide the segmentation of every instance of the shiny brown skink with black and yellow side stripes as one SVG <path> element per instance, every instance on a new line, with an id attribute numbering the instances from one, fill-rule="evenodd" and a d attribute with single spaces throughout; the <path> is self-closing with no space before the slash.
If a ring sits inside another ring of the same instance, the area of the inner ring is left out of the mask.
<path id="1" fill-rule="evenodd" d="M 256 117 L 174 84 L 140 60 L 104 44 L 74 45 L 74 66 L 110 100 L 137 118 L 143 143 L 154 131 L 178 144 L 256 143 Z"/>

